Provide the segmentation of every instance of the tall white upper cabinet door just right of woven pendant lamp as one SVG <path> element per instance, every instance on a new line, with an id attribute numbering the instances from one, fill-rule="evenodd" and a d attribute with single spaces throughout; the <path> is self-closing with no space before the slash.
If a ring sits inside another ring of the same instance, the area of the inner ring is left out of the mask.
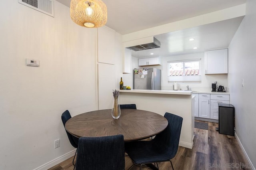
<path id="1" fill-rule="evenodd" d="M 98 28 L 98 62 L 115 64 L 115 31 L 106 26 Z"/>

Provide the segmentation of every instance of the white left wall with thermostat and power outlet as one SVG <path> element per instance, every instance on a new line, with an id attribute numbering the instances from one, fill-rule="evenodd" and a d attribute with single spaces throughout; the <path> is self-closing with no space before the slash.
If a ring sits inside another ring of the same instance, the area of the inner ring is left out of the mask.
<path id="1" fill-rule="evenodd" d="M 38 168 L 74 150 L 61 114 L 98 109 L 97 29 L 76 25 L 69 10 L 55 1 L 53 18 L 18 0 L 0 6 L 1 170 Z M 40 67 L 26 66 L 26 58 L 40 60 Z"/>

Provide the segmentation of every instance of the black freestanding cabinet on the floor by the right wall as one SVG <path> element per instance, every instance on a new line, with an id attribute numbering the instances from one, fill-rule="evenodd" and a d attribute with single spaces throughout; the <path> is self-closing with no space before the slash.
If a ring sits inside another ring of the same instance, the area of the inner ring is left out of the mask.
<path id="1" fill-rule="evenodd" d="M 235 108 L 231 104 L 219 103 L 219 133 L 234 136 Z"/>

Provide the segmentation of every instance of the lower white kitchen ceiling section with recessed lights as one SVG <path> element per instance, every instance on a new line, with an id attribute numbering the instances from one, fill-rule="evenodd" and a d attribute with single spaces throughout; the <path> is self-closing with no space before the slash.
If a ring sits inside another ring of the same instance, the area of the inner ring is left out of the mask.
<path id="1" fill-rule="evenodd" d="M 200 53 L 211 49 L 227 48 L 244 17 L 215 22 L 185 30 L 154 36 L 161 47 L 142 51 L 132 51 L 132 56 L 153 57 Z M 194 41 L 189 41 L 194 38 Z M 197 49 L 193 49 L 197 47 Z M 150 55 L 150 53 L 154 53 Z"/>

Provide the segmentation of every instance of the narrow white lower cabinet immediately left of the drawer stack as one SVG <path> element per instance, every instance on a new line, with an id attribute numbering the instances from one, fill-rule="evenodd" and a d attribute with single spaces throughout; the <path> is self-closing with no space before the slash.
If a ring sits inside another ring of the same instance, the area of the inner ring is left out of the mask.
<path id="1" fill-rule="evenodd" d="M 198 117 L 210 119 L 210 94 L 199 94 Z"/>

